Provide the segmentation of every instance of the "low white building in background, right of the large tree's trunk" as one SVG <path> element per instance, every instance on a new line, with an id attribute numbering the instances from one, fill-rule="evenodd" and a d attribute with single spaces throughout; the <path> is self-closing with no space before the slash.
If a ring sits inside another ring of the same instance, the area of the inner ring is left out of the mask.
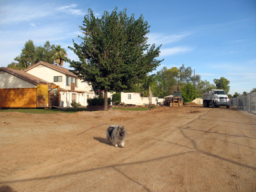
<path id="1" fill-rule="evenodd" d="M 141 97 L 141 93 L 124 93 L 121 92 L 121 102 L 125 104 L 133 104 L 136 106 L 142 106 L 149 104 L 149 97 Z M 157 104 L 158 97 L 152 97 L 152 104 Z"/>

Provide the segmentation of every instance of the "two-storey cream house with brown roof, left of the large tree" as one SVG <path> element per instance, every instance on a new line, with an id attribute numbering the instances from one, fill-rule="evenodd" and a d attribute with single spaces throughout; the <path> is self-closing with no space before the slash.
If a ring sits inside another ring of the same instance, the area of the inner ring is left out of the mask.
<path id="1" fill-rule="evenodd" d="M 87 105 L 87 99 L 94 97 L 92 86 L 83 82 L 67 68 L 39 61 L 24 72 L 60 86 L 61 106 L 70 107 L 72 102 Z"/>

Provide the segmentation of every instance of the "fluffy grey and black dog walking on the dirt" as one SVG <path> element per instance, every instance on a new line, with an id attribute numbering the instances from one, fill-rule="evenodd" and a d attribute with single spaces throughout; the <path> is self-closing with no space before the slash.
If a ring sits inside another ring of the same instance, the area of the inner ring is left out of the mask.
<path id="1" fill-rule="evenodd" d="M 115 147 L 124 147 L 124 140 L 126 137 L 126 130 L 124 129 L 124 126 L 119 125 L 109 125 L 107 131 L 106 131 L 106 138 L 108 143 L 110 141 L 112 142 Z"/>

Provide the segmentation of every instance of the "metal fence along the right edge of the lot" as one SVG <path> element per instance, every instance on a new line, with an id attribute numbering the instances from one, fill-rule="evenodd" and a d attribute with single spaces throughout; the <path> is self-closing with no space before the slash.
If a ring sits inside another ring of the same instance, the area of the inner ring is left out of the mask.
<path id="1" fill-rule="evenodd" d="M 231 106 L 256 114 L 256 92 L 233 97 Z"/>

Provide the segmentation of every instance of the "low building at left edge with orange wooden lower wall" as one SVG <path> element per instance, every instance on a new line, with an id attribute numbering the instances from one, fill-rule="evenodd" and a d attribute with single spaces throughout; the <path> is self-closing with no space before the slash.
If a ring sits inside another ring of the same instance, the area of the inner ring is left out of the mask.
<path id="1" fill-rule="evenodd" d="M 0 108 L 59 106 L 60 86 L 22 70 L 0 68 Z"/>

